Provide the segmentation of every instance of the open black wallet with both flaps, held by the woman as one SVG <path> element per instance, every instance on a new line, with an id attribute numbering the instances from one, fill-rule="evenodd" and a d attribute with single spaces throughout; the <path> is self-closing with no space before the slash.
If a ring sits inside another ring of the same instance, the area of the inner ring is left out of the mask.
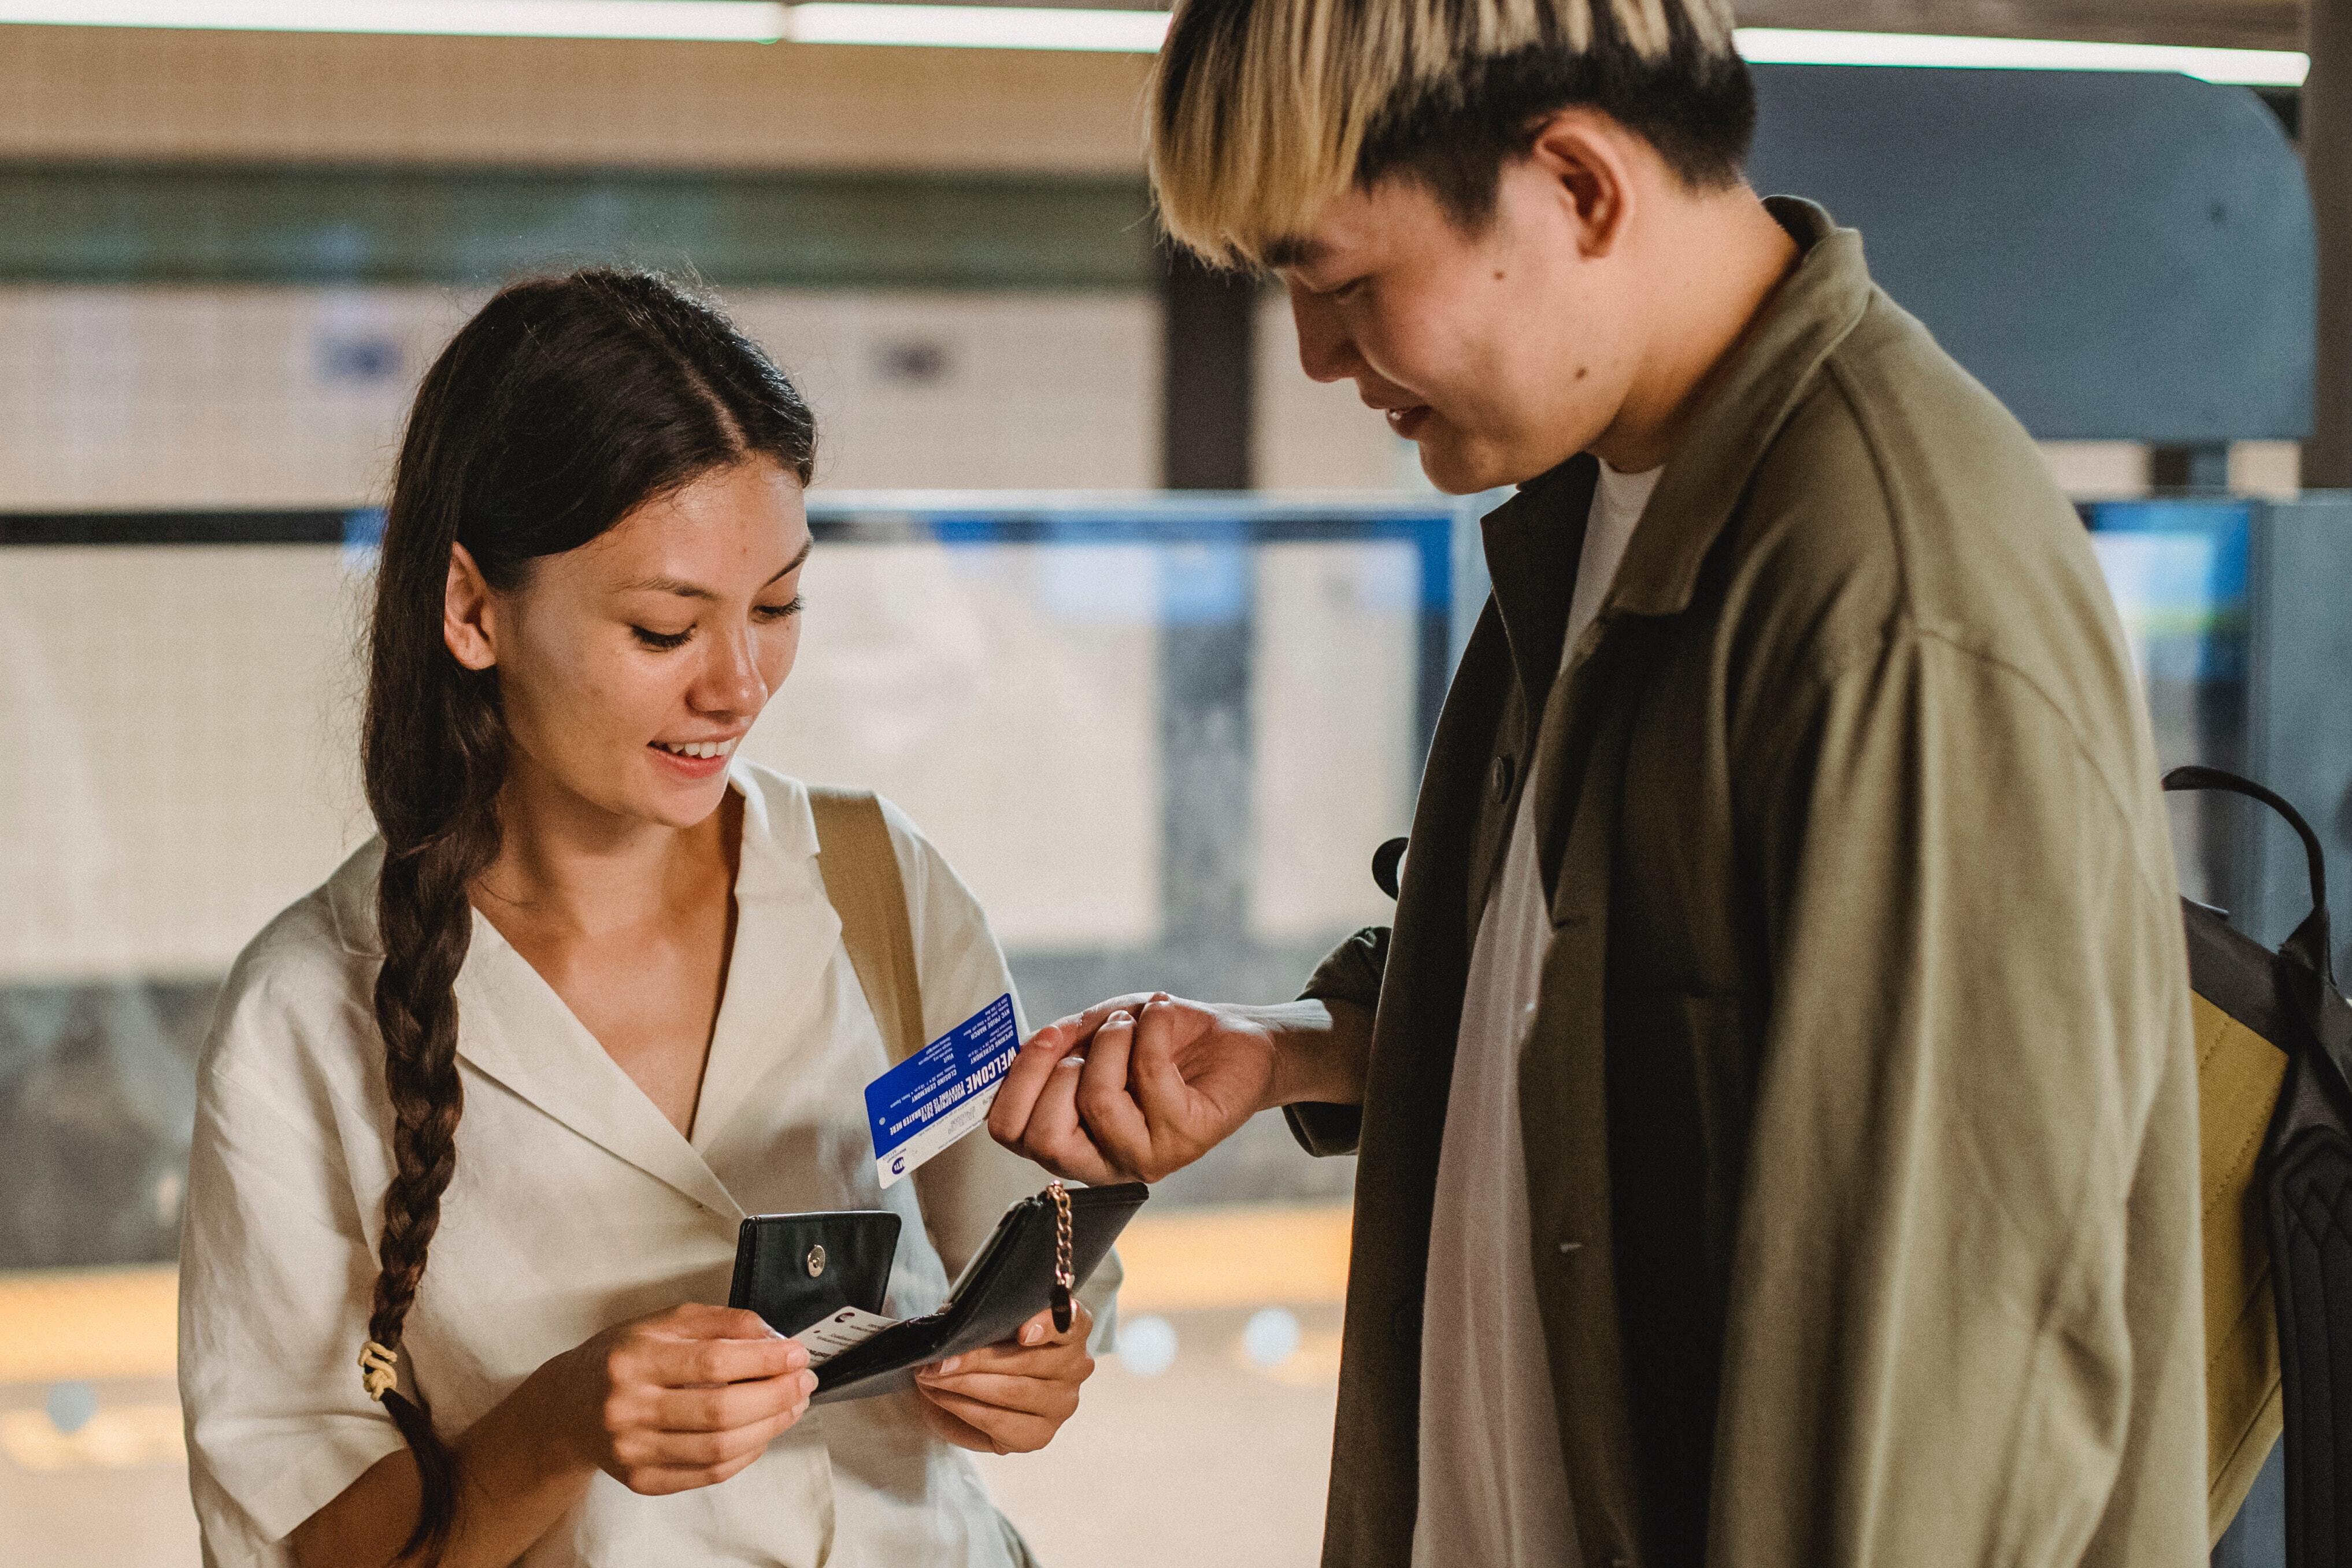
<path id="1" fill-rule="evenodd" d="M 1021 1199 L 1004 1211 L 995 1234 L 964 1265 L 938 1312 L 891 1324 L 821 1361 L 811 1403 L 910 1389 L 917 1366 L 1009 1340 L 1021 1333 L 1021 1324 L 1040 1312 L 1068 1312 L 1070 1293 L 1094 1276 L 1120 1232 L 1127 1229 L 1127 1220 L 1143 1208 L 1148 1197 L 1150 1190 L 1143 1182 L 1120 1187 L 1061 1187 L 1054 1182 L 1037 1197 Z M 816 1321 L 818 1314 L 804 1309 L 814 1295 L 800 1291 L 804 1281 L 795 1281 L 790 1267 L 762 1272 L 755 1265 L 746 1269 L 743 1246 L 750 1244 L 753 1225 L 807 1218 L 842 1220 L 844 1215 L 757 1215 L 743 1222 L 743 1239 L 736 1246 L 736 1300 L 729 1305 L 760 1312 L 781 1333 L 800 1333 Z M 804 1258 L 807 1246 L 818 1246 L 809 1237 L 793 1234 L 771 1255 L 788 1265 L 793 1251 L 802 1248 Z M 802 1272 L 807 1269 L 802 1267 Z M 793 1309 L 779 1305 L 771 1312 L 769 1307 L 776 1302 L 760 1298 L 760 1281 L 795 1291 L 802 1305 Z M 807 1321 L 795 1321 L 795 1316 L 807 1316 Z"/>

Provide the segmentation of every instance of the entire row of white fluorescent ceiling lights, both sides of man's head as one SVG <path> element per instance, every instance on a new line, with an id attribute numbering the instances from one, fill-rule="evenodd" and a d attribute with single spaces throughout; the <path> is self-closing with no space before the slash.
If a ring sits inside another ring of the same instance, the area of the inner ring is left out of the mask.
<path id="1" fill-rule="evenodd" d="M 1150 54 L 1167 12 L 875 0 L 0 0 L 0 24 L 259 28 L 280 33 L 463 33 L 492 38 L 694 38 L 715 42 L 1105 49 Z M 2058 38 L 1740 28 L 1750 61 L 1978 71 L 2178 71 L 2209 82 L 2298 87 L 2296 49 L 2187 49 Z"/>

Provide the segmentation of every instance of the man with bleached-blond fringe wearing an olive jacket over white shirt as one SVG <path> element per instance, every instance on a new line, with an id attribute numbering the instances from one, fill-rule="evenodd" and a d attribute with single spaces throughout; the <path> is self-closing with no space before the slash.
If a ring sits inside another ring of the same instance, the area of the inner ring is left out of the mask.
<path id="1" fill-rule="evenodd" d="M 1183 0 L 1169 233 L 1486 520 L 1392 931 L 997 1135 L 1359 1154 L 1324 1561 L 2204 1561 L 2187 980 L 2032 440 L 1759 202 L 1724 0 Z M 1933 200 L 1922 193 L 1922 200 Z"/>

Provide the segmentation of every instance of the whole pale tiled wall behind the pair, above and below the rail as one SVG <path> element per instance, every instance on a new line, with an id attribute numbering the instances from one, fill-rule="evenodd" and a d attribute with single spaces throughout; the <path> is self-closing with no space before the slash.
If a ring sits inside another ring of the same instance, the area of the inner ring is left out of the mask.
<path id="1" fill-rule="evenodd" d="M 0 289 L 0 505 L 381 501 L 445 289 Z M 1122 294 L 731 292 L 821 418 L 823 489 L 1148 489 L 1160 322 Z M 1409 449 L 1289 357 L 1268 303 L 1275 487 L 1411 477 Z M 365 583 L 334 550 L 12 550 L 0 571 L 0 976 L 219 973 L 358 837 Z M 811 649 L 750 755 L 870 783 L 1028 947 L 1145 943 L 1160 907 L 1152 550 L 854 545 L 811 574 Z M 1369 846 L 1411 790 L 1402 548 L 1258 557 L 1254 924 L 1378 914 Z M 1084 745 L 1089 771 L 1023 759 Z M 943 757 L 981 759 L 941 766 Z M 1120 780 L 1103 788 L 1101 780 Z"/>

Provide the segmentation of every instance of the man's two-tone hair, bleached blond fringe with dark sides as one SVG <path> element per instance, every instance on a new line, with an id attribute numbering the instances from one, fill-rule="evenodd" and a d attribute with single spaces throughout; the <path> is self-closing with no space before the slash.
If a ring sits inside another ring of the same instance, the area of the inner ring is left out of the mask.
<path id="1" fill-rule="evenodd" d="M 1178 0 L 1152 190 L 1204 261 L 1279 266 L 1324 202 L 1390 172 L 1477 221 L 1512 136 L 1566 103 L 1625 120 L 1691 183 L 1738 179 L 1755 101 L 1731 2 Z"/>

